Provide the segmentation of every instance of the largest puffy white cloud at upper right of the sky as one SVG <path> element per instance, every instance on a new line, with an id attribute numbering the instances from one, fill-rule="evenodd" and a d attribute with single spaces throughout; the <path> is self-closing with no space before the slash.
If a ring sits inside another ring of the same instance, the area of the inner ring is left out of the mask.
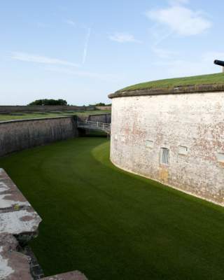
<path id="1" fill-rule="evenodd" d="M 186 1 L 172 1 L 172 6 L 158 10 L 148 10 L 146 15 L 151 20 L 165 25 L 172 32 L 181 36 L 201 34 L 211 27 L 211 22 L 200 11 L 183 6 Z"/>

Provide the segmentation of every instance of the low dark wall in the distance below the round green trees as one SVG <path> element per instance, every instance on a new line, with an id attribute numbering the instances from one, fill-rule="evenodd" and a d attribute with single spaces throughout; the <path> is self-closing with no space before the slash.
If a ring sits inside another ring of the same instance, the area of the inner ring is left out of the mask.
<path id="1" fill-rule="evenodd" d="M 94 106 L 0 106 L 0 113 L 45 111 L 91 111 Z"/>

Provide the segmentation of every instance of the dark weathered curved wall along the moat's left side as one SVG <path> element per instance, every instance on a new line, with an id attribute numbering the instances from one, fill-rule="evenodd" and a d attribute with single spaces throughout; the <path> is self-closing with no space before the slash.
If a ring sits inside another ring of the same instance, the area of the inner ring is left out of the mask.
<path id="1" fill-rule="evenodd" d="M 73 137 L 78 137 L 73 117 L 0 122 L 0 156 Z"/>

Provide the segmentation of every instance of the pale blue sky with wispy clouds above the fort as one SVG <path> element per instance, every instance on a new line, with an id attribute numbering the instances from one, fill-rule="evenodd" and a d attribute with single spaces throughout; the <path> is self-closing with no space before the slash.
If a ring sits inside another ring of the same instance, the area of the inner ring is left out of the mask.
<path id="1" fill-rule="evenodd" d="M 218 73 L 223 0 L 0 1 L 0 104 L 110 103 L 148 80 Z"/>

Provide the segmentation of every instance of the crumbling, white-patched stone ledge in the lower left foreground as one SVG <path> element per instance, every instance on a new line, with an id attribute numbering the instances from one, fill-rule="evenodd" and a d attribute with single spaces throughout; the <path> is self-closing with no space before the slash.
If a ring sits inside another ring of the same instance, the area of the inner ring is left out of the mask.
<path id="1" fill-rule="evenodd" d="M 34 260 L 25 254 L 25 246 L 38 235 L 41 218 L 0 168 L 0 280 L 37 280 Z M 68 272 L 45 280 L 87 280 L 78 272 Z"/>

